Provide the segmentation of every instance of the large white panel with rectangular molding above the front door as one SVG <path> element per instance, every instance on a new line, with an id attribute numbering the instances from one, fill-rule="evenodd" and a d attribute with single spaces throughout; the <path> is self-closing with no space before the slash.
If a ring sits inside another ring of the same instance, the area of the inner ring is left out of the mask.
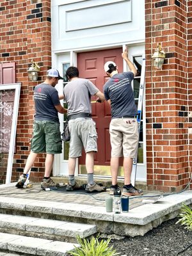
<path id="1" fill-rule="evenodd" d="M 145 41 L 145 0 L 52 0 L 52 50 Z"/>

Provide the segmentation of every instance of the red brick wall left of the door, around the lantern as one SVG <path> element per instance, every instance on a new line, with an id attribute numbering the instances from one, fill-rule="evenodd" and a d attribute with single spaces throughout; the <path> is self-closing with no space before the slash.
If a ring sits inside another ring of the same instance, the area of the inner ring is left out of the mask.
<path id="1" fill-rule="evenodd" d="M 51 1 L 1 0 L 0 3 L 0 62 L 16 63 L 16 82 L 22 83 L 17 122 L 17 152 L 13 159 L 12 182 L 23 172 L 29 154 L 33 129 L 33 88 L 44 81 L 51 68 Z M 28 81 L 31 60 L 40 65 L 37 82 Z M 6 154 L 1 159 L 7 158 Z M 44 175 L 44 154 L 36 159 L 31 177 L 39 181 Z M 4 163 L 3 163 L 4 164 Z M 4 183 L 6 168 L 1 166 L 0 182 Z"/>

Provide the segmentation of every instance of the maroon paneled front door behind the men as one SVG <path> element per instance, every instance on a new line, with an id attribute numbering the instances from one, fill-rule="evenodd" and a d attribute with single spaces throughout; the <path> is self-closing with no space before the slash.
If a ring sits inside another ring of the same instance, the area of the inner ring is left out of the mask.
<path id="1" fill-rule="evenodd" d="M 77 54 L 77 67 L 79 77 L 92 81 L 101 92 L 108 76 L 104 72 L 104 63 L 114 61 L 118 66 L 119 72 L 123 71 L 122 48 L 81 52 Z M 92 100 L 97 97 L 93 97 Z M 108 102 L 92 103 L 93 120 L 97 128 L 98 152 L 95 154 L 95 166 L 109 166 L 111 157 L 111 145 L 109 140 L 109 122 L 111 120 L 111 108 Z M 85 164 L 85 154 L 79 158 L 79 164 Z"/>

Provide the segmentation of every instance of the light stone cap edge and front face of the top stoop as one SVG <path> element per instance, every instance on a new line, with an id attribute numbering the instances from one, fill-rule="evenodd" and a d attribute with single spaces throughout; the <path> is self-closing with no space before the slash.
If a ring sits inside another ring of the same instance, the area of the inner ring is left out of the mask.
<path id="1" fill-rule="evenodd" d="M 102 206 L 31 199 L 20 200 L 20 198 L 8 198 L 3 196 L 0 197 L 0 211 L 3 214 L 85 223 L 97 226 L 97 232 L 99 233 L 133 237 L 143 236 L 148 230 L 157 227 L 163 221 L 175 218 L 175 216 L 179 214 L 179 209 L 183 203 L 186 205 L 192 203 L 192 191 L 184 191 L 175 195 L 164 196 L 156 204 L 143 204 L 131 209 L 127 213 L 122 212 L 121 214 L 106 212 L 105 207 Z M 36 223 L 40 225 L 39 220 L 37 220 Z M 26 227 L 29 228 L 30 226 L 30 228 L 33 228 L 34 225 L 36 225 L 35 222 L 33 225 L 26 224 Z M 42 230 L 45 230 L 47 223 L 44 223 L 42 226 L 44 226 Z M 72 226 L 69 227 L 69 229 L 72 229 Z M 39 230 L 41 230 L 41 228 L 39 228 Z M 51 227 L 47 228 L 47 230 L 52 232 Z M 93 230 L 95 231 L 96 229 L 93 228 Z M 28 230 L 26 230 L 26 232 L 27 231 Z M 56 231 L 54 232 L 56 233 Z M 58 233 L 61 234 L 61 228 Z M 67 234 L 67 232 L 65 234 Z"/>

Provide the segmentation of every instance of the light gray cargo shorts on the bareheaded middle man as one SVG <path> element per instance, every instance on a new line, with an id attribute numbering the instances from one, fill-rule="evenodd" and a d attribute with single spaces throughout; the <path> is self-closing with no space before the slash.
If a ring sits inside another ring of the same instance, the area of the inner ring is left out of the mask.
<path id="1" fill-rule="evenodd" d="M 69 157 L 82 156 L 84 151 L 97 152 L 97 132 L 92 118 L 76 118 L 68 121 L 70 131 Z"/>

